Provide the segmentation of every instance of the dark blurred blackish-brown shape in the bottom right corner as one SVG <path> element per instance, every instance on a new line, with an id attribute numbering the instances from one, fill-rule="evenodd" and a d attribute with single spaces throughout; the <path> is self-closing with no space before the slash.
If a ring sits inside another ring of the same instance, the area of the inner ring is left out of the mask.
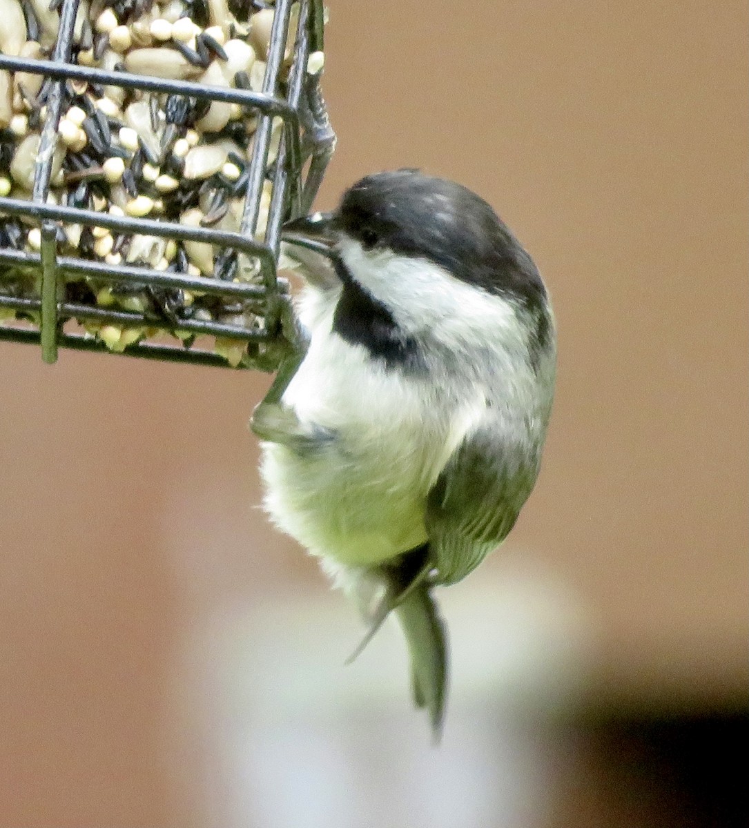
<path id="1" fill-rule="evenodd" d="M 577 766 L 553 828 L 749 824 L 747 706 L 662 716 L 612 712 L 575 733 Z"/>

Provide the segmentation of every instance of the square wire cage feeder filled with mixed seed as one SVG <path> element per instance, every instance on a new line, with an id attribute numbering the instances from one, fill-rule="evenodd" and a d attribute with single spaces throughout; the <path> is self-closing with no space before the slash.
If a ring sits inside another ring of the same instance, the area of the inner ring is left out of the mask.
<path id="1" fill-rule="evenodd" d="M 0 0 L 0 339 L 273 370 L 319 0 Z"/>

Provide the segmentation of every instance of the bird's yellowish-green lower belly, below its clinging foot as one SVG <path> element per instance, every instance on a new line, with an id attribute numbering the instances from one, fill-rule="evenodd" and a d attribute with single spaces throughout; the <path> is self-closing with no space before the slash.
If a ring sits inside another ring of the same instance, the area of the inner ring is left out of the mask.
<path id="1" fill-rule="evenodd" d="M 353 454 L 329 445 L 299 455 L 266 443 L 265 507 L 313 555 L 372 566 L 427 539 L 427 487 L 412 461 L 387 447 Z"/>

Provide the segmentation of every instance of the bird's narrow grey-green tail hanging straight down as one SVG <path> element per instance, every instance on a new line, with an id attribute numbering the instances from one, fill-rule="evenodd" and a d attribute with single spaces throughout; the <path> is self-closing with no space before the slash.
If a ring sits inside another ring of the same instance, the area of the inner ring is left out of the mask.
<path id="1" fill-rule="evenodd" d="M 411 657 L 413 698 L 428 710 L 436 741 L 442 735 L 447 700 L 447 628 L 429 585 L 409 590 L 395 605 Z"/>

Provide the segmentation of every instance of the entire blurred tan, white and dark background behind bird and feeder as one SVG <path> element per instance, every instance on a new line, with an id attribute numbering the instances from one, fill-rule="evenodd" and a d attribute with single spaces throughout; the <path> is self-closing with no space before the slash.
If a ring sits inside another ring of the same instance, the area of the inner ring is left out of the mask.
<path id="1" fill-rule="evenodd" d="M 258 508 L 268 377 L 0 344 L 0 826 L 746 825 L 746 4 L 330 17 L 319 207 L 461 181 L 558 316 L 539 485 L 442 595 L 442 746 Z"/>

